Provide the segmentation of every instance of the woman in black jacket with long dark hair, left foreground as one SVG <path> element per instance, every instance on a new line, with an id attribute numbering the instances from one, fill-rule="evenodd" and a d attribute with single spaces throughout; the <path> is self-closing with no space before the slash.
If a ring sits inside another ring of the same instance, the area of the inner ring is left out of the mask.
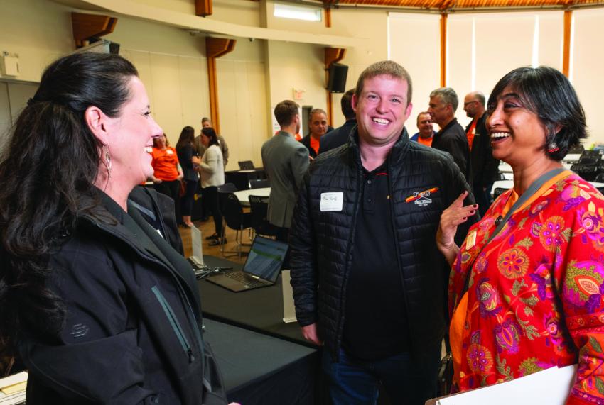
<path id="1" fill-rule="evenodd" d="M 16 121 L 0 159 L 0 341 L 29 370 L 30 405 L 203 403 L 194 274 L 166 240 L 163 197 L 130 197 L 162 134 L 134 65 L 97 53 L 53 62 Z"/>

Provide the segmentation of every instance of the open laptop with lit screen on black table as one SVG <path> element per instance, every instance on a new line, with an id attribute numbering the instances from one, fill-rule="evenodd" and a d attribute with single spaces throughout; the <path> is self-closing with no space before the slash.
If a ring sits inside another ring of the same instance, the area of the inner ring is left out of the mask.
<path id="1" fill-rule="evenodd" d="M 230 289 L 247 291 L 275 284 L 287 253 L 287 243 L 256 236 L 243 270 L 207 277 L 207 281 Z"/>

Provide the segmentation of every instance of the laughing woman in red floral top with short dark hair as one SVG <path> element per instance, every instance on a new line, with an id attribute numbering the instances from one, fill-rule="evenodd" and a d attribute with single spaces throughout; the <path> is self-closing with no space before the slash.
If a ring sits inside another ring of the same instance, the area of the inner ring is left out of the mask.
<path id="1" fill-rule="evenodd" d="M 583 108 L 563 74 L 522 67 L 497 83 L 487 113 L 493 156 L 512 166 L 514 188 L 460 248 L 453 235 L 476 206 L 463 207 L 462 195 L 441 216 L 454 383 L 465 391 L 578 363 L 566 404 L 604 404 L 602 194 L 559 170 L 488 242 L 519 196 L 586 138 Z"/>

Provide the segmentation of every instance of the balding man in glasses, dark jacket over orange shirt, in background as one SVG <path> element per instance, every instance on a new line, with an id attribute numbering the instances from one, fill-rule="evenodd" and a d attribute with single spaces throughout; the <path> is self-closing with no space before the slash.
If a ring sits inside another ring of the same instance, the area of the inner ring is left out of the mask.
<path id="1" fill-rule="evenodd" d="M 465 115 L 472 122 L 465 127 L 472 162 L 473 192 L 480 216 L 484 216 L 491 205 L 491 189 L 499 172 L 499 160 L 493 157 L 491 137 L 485 126 L 485 95 L 480 91 L 468 93 L 463 99 Z"/>

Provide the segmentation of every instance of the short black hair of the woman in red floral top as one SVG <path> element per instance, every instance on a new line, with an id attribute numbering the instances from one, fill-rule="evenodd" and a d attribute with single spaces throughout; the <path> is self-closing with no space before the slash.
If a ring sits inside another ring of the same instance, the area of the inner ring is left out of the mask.
<path id="1" fill-rule="evenodd" d="M 561 161 L 568 150 L 587 138 L 583 107 L 571 82 L 558 70 L 546 66 L 512 70 L 495 84 L 488 111 L 506 88 L 517 93 L 524 106 L 544 123 L 547 133 L 542 148 L 551 160 Z"/>

